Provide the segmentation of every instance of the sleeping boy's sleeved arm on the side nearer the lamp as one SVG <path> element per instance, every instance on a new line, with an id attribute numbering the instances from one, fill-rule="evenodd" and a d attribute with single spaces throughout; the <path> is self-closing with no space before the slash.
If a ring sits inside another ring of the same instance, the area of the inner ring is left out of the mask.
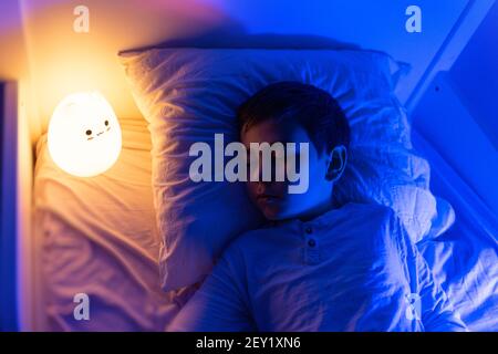
<path id="1" fill-rule="evenodd" d="M 167 331 L 255 331 L 241 293 L 243 274 L 235 274 L 234 248 L 217 262 L 211 274 L 185 304 Z M 240 256 L 237 253 L 237 256 Z M 238 268 L 236 268 L 238 269 Z"/>

